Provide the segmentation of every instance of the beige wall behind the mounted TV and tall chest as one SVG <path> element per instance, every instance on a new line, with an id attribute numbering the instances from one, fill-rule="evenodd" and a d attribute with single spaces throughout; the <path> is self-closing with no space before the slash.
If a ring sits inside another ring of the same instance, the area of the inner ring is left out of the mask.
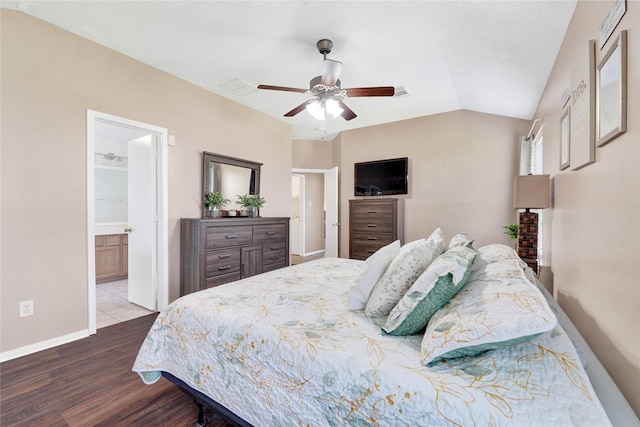
<path id="1" fill-rule="evenodd" d="M 447 237 L 467 232 L 477 247 L 512 244 L 502 226 L 516 219 L 518 140 L 529 127 L 524 120 L 460 110 L 343 132 L 337 143 L 341 256 L 349 256 L 353 164 L 394 157 L 409 158 L 409 194 L 399 196 L 405 199 L 406 242 L 440 227 Z"/>

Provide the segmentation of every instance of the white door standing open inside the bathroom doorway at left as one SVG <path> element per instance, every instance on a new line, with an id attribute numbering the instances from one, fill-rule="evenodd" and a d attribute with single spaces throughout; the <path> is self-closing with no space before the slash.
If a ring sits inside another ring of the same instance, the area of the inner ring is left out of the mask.
<path id="1" fill-rule="evenodd" d="M 155 135 L 129 141 L 128 299 L 149 310 L 156 310 L 155 168 Z"/>

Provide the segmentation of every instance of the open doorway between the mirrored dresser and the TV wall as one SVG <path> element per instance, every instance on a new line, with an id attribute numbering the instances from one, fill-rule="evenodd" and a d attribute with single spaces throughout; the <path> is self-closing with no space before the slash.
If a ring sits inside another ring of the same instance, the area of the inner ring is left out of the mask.
<path id="1" fill-rule="evenodd" d="M 293 169 L 291 262 L 338 256 L 338 168 Z"/>

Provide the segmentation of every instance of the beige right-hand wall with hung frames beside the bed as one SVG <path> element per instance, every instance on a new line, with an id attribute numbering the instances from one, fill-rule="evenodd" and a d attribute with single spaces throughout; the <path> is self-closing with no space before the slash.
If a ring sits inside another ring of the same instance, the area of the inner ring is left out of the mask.
<path id="1" fill-rule="evenodd" d="M 627 132 L 596 149 L 596 162 L 559 171 L 560 97 L 580 51 L 598 39 L 611 1 L 580 1 L 541 98 L 545 172 L 554 206 L 550 261 L 555 297 L 640 415 L 640 3 L 627 11 L 600 50 L 600 63 L 620 30 L 628 30 Z M 550 242 L 549 242 L 550 241 Z"/>

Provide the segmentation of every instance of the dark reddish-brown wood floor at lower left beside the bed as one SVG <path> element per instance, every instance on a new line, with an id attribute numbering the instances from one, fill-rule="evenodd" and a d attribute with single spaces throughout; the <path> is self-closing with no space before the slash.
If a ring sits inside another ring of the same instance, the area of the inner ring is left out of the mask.
<path id="1" fill-rule="evenodd" d="M 157 314 L 0 364 L 0 425 L 193 426 L 193 401 L 164 378 L 131 371 Z M 231 427 L 207 411 L 210 427 Z"/>

